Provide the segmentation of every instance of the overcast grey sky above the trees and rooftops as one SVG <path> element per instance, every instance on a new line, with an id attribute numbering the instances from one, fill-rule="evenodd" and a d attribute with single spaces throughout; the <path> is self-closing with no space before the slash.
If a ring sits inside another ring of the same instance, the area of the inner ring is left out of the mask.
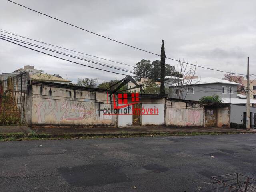
<path id="1" fill-rule="evenodd" d="M 255 0 L 14 1 L 150 52 L 160 54 L 161 40 L 164 39 L 166 56 L 200 66 L 245 74 L 249 56 L 250 72 L 256 74 Z M 6 0 L 1 0 L 0 28 L 129 65 L 135 65 L 141 59 L 160 60 L 158 56 L 95 36 Z M 100 61 L 133 70 L 130 66 Z M 166 59 L 166 64 L 177 67 L 177 62 L 172 60 Z M 99 82 L 124 77 L 52 58 L 0 40 L 0 74 L 13 72 L 23 65 L 32 65 L 49 74 L 60 74 L 73 82 L 86 77 L 99 78 Z M 223 73 L 197 68 L 196 75 L 222 78 Z"/>

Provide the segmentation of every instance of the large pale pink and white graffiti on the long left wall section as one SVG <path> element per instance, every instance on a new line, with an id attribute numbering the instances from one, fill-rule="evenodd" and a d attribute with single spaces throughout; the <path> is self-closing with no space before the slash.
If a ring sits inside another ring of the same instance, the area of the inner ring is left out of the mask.
<path id="1" fill-rule="evenodd" d="M 46 116 L 54 118 L 56 121 L 62 120 L 86 120 L 93 118 L 98 119 L 94 102 L 78 102 L 60 100 L 43 100 L 37 107 L 36 113 L 38 115 L 38 122 L 45 122 Z M 52 115 L 52 117 L 51 117 Z M 109 119 L 111 117 L 105 117 Z"/>

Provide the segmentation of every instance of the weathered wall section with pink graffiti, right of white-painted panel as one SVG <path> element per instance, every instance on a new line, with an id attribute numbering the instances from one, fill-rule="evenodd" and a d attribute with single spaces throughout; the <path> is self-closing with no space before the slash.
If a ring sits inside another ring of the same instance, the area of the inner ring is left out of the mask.
<path id="1" fill-rule="evenodd" d="M 191 102 L 166 101 L 167 126 L 204 126 L 204 106 Z"/>

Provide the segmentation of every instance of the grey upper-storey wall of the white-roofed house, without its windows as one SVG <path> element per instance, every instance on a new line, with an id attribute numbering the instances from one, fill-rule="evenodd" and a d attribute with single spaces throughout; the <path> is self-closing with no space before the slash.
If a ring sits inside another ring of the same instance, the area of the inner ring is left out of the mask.
<path id="1" fill-rule="evenodd" d="M 227 93 L 225 93 L 225 94 L 222 93 L 222 86 L 227 87 Z M 233 90 L 237 89 L 236 85 L 221 84 L 221 83 L 191 85 L 190 88 L 194 88 L 194 94 L 186 94 L 187 91 L 188 91 L 186 89 L 183 92 L 183 98 L 182 99 L 198 101 L 198 100 L 200 100 L 201 97 L 211 96 L 212 94 L 217 94 L 217 95 L 220 96 L 220 98 L 229 97 L 229 87 L 233 87 Z M 169 88 L 168 96 L 170 98 L 178 98 L 178 95 L 173 94 L 174 93 L 173 89 L 174 89 L 173 87 Z M 185 96 L 186 96 L 186 98 L 185 98 Z M 233 92 L 233 94 L 231 94 L 231 97 L 236 98 L 236 92 Z"/>

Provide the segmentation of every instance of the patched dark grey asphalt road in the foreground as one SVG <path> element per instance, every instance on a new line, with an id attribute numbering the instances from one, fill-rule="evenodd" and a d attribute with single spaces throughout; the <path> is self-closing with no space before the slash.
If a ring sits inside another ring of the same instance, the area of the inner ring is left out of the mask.
<path id="1" fill-rule="evenodd" d="M 256 177 L 256 134 L 0 142 L 1 192 L 202 192 L 233 172 Z"/>

